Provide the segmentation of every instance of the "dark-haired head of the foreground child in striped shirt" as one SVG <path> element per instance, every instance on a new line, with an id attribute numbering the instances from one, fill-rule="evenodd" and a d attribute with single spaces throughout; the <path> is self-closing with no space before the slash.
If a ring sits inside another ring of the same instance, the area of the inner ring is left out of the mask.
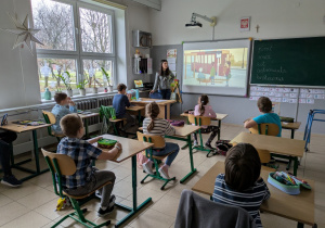
<path id="1" fill-rule="evenodd" d="M 255 147 L 238 143 L 225 159 L 225 183 L 236 191 L 251 188 L 260 177 L 261 161 Z"/>

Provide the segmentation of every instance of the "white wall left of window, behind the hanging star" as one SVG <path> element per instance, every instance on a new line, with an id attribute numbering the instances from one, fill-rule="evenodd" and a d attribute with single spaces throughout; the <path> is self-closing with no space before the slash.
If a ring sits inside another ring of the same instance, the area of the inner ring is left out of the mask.
<path id="1" fill-rule="evenodd" d="M 29 0 L 2 0 L 0 5 L 0 28 L 15 28 L 8 13 L 21 20 L 31 15 Z M 12 50 L 15 38 L 0 30 L 0 110 L 40 103 L 35 49 L 34 55 L 26 47 Z"/>

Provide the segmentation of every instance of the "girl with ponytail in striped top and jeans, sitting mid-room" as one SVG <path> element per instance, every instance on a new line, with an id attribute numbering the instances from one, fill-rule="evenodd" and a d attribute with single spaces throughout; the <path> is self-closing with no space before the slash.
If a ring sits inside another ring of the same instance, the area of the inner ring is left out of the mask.
<path id="1" fill-rule="evenodd" d="M 148 103 L 145 106 L 145 115 L 146 117 L 143 121 L 143 132 L 145 135 L 155 135 L 155 136 L 173 136 L 176 130 L 170 125 L 170 123 L 167 119 L 157 118 L 159 115 L 159 106 L 156 102 Z M 176 159 L 180 151 L 180 147 L 172 142 L 165 142 L 164 148 L 154 148 L 153 155 L 156 156 L 162 156 L 165 154 L 169 154 L 167 156 L 167 160 L 165 164 L 159 168 L 159 174 L 166 178 L 169 179 L 168 169 L 172 163 L 172 161 Z M 152 170 L 153 167 L 153 161 L 148 160 L 146 163 L 142 164 L 143 170 L 147 174 L 154 174 Z"/>

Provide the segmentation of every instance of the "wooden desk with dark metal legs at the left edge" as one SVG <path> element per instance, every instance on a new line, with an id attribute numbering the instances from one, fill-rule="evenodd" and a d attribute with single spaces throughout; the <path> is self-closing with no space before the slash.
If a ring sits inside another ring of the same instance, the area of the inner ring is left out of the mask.
<path id="1" fill-rule="evenodd" d="M 25 160 L 23 162 L 18 162 L 15 163 L 14 161 L 14 156 L 11 156 L 11 167 L 12 168 L 16 168 L 26 173 L 29 173 L 30 175 L 27 177 L 24 177 L 23 179 L 21 179 L 22 181 L 28 180 L 32 177 L 39 176 L 46 172 L 49 170 L 49 168 L 41 170 L 40 169 L 40 165 L 39 165 L 39 151 L 38 151 L 38 141 L 37 141 L 37 129 L 41 129 L 41 128 L 47 128 L 52 126 L 52 124 L 43 124 L 43 125 L 39 125 L 39 126 L 26 126 L 26 125 L 18 125 L 18 124 L 14 124 L 12 122 L 9 122 L 6 125 L 0 126 L 0 129 L 3 130 L 9 130 L 9 131 L 13 131 L 16 134 L 21 134 L 21 132 L 25 132 L 25 131 L 31 131 L 32 132 L 32 143 L 34 143 L 34 155 L 35 155 L 35 165 L 36 165 L 36 170 L 31 170 L 29 168 L 25 168 L 22 167 L 21 165 L 30 162 L 31 159 Z M 12 150 L 12 144 L 11 144 L 11 150 Z M 13 153 L 12 153 L 13 154 Z"/>

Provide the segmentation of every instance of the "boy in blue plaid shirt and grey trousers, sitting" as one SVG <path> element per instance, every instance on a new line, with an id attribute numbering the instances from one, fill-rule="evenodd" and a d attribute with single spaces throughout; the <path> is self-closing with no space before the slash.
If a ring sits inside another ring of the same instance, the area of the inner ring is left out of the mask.
<path id="1" fill-rule="evenodd" d="M 89 141 L 82 140 L 84 134 L 83 124 L 77 114 L 64 116 L 60 125 L 65 138 L 57 144 L 56 153 L 70 156 L 76 164 L 77 170 L 74 175 L 63 176 L 62 186 L 64 191 L 72 195 L 84 195 L 98 189 L 100 186 L 110 181 L 112 183 L 100 189 L 101 207 L 99 216 L 105 216 L 113 212 L 115 205 L 115 195 L 110 195 L 115 182 L 115 174 L 109 170 L 99 170 L 92 166 L 91 160 L 113 160 L 121 144 L 117 142 L 110 151 L 102 151 L 91 143 L 96 142 L 101 137 Z"/>

